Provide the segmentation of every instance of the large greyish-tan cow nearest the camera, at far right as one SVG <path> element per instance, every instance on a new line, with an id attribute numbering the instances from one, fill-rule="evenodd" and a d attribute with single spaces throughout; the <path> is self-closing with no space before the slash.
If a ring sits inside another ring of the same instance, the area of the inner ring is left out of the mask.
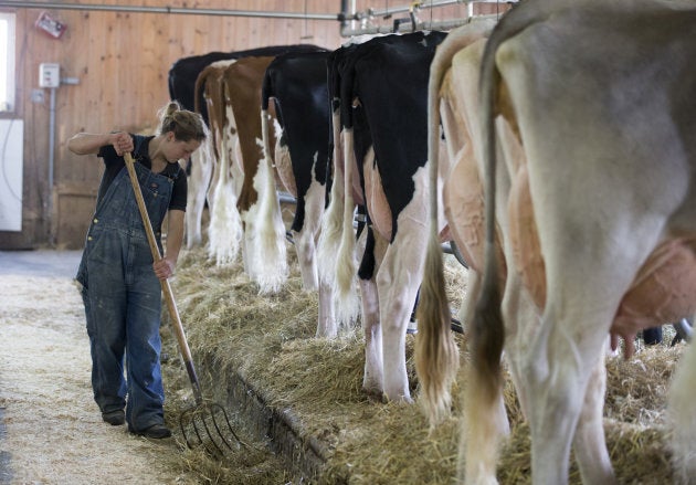
<path id="1" fill-rule="evenodd" d="M 688 1 L 527 0 L 492 33 L 482 63 L 486 252 L 466 483 L 496 482 L 486 431 L 495 430 L 504 346 L 530 424 L 534 483 L 567 483 L 571 445 L 586 483 L 615 482 L 593 379 L 607 335 L 624 337 L 630 354 L 636 331 L 696 309 L 695 25 Z M 524 150 L 505 165 L 496 164 L 500 128 Z M 498 183 L 505 177 L 508 187 Z M 500 201 L 507 282 L 517 275 L 537 309 L 525 318 L 510 318 L 516 298 L 508 283 L 499 288 Z M 516 252 L 529 236 L 538 244 Z M 696 357 L 687 351 L 669 401 L 684 483 L 696 474 Z"/>

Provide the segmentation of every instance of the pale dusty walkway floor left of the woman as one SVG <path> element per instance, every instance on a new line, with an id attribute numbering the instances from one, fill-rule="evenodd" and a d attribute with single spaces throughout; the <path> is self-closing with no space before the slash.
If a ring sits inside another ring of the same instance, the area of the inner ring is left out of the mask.
<path id="1" fill-rule="evenodd" d="M 77 254 L 66 253 L 59 271 L 55 254 L 41 256 L 0 257 L 0 483 L 199 483 L 172 466 L 175 440 L 148 441 L 102 421 L 82 301 L 67 271 Z"/>

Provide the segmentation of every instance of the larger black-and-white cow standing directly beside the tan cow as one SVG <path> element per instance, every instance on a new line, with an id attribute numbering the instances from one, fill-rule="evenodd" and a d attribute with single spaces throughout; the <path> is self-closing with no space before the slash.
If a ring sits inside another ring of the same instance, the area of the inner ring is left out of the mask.
<path id="1" fill-rule="evenodd" d="M 428 76 L 435 48 L 445 35 L 380 36 L 350 46 L 334 60 L 340 77 L 346 196 L 342 236 L 334 257 L 338 308 L 342 318 L 354 313 L 346 308 L 345 296 L 358 277 L 366 337 L 362 386 L 393 401 L 412 401 L 405 336 L 422 277 L 429 215 Z M 341 183 L 338 175 L 335 183 Z M 359 270 L 354 201 L 366 207 L 368 222 L 361 233 L 365 251 Z"/>

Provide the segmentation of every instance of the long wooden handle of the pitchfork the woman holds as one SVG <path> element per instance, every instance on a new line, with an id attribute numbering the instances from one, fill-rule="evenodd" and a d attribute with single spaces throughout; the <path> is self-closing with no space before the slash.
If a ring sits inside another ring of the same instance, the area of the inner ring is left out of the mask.
<path id="1" fill-rule="evenodd" d="M 126 160 L 126 169 L 128 170 L 128 176 L 130 177 L 130 184 L 133 186 L 133 192 L 136 197 L 136 201 L 138 202 L 140 218 L 143 218 L 143 225 L 145 225 L 145 233 L 147 234 L 147 241 L 150 244 L 152 259 L 155 260 L 155 262 L 158 262 L 162 259 L 162 256 L 161 254 L 159 254 L 159 247 L 157 246 L 157 240 L 155 239 L 155 231 L 152 231 L 152 223 L 150 222 L 150 217 L 148 215 L 147 209 L 145 208 L 145 200 L 143 199 L 143 191 L 140 190 L 140 183 L 138 183 L 138 176 L 135 170 L 135 165 L 134 165 L 135 160 L 133 159 L 133 156 L 129 152 L 124 154 L 124 159 Z M 200 405 L 203 401 L 201 387 L 200 387 L 200 382 L 198 381 L 198 377 L 196 376 L 196 368 L 193 367 L 193 358 L 191 357 L 191 350 L 189 349 L 189 344 L 186 340 L 183 326 L 181 325 L 181 318 L 179 317 L 179 310 L 177 309 L 177 304 L 175 303 L 175 299 L 173 299 L 173 293 L 171 292 L 169 280 L 160 280 L 159 283 L 162 286 L 165 301 L 167 302 L 167 309 L 169 310 L 169 316 L 171 317 L 171 325 L 177 336 L 177 341 L 179 342 L 179 349 L 181 350 L 181 357 L 183 357 L 183 361 L 186 363 L 186 370 L 189 373 L 191 387 L 193 388 L 193 398 L 196 399 L 196 403 Z"/>

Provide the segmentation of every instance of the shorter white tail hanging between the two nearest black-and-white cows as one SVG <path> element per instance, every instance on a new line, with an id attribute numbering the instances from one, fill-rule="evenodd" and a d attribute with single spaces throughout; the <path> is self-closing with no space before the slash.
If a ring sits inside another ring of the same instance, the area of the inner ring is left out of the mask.
<path id="1" fill-rule="evenodd" d="M 318 265 L 319 282 L 328 287 L 336 286 L 336 254 L 340 244 L 340 234 L 342 229 L 344 215 L 344 164 L 340 144 L 340 119 L 338 110 L 334 112 L 331 129 L 334 130 L 334 180 L 331 182 L 331 192 L 329 196 L 329 204 L 321 215 L 321 231 L 317 242 L 317 260 L 321 262 Z"/>

